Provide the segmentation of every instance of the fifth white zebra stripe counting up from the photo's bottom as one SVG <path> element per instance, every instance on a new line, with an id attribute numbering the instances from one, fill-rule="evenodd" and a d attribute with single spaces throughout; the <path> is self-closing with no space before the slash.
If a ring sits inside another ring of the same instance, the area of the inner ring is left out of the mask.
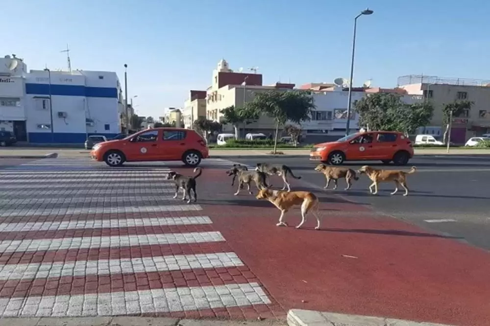
<path id="1" fill-rule="evenodd" d="M 114 206 L 114 207 L 76 207 L 76 208 L 34 208 L 21 210 L 0 210 L 0 217 L 9 216 L 49 216 L 49 215 L 75 215 L 75 214 L 117 214 L 117 213 L 141 213 L 161 211 L 202 210 L 199 205 L 157 205 L 157 206 Z"/>

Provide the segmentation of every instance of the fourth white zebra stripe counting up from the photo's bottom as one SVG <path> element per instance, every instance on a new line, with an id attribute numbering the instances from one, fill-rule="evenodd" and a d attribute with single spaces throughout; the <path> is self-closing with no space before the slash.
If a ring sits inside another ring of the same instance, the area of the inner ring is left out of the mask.
<path id="1" fill-rule="evenodd" d="M 134 228 L 164 225 L 212 224 L 209 216 L 114 218 L 105 220 L 0 223 L 0 232 Z"/>

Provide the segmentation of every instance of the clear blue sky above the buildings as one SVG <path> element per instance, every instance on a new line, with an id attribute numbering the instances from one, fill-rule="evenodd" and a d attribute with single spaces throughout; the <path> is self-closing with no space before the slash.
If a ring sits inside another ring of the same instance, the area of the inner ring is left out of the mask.
<path id="1" fill-rule="evenodd" d="M 484 0 L 21 0 L 3 15 L 1 54 L 28 69 L 116 71 L 128 64 L 140 115 L 181 107 L 205 90 L 221 58 L 231 69 L 258 66 L 267 84 L 348 78 L 358 20 L 354 84 L 394 87 L 406 74 L 490 79 Z M 5 5 L 4 5 L 5 7 Z M 5 9 L 5 8 L 4 8 Z"/>

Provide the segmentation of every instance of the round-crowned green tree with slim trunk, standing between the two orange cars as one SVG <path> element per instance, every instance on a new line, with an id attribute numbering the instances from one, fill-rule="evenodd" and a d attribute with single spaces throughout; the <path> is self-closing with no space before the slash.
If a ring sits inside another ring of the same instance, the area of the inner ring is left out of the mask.
<path id="1" fill-rule="evenodd" d="M 277 152 L 277 137 L 279 126 L 287 121 L 301 124 L 311 119 L 315 104 L 310 92 L 305 91 L 269 91 L 257 93 L 252 101 L 247 102 L 245 108 L 255 115 L 267 115 L 274 119 L 276 124 L 273 154 Z"/>

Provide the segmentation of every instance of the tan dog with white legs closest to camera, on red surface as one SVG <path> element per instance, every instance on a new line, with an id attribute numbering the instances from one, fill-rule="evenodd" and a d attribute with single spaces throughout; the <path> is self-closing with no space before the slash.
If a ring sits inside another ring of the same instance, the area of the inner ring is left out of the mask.
<path id="1" fill-rule="evenodd" d="M 291 207 L 301 205 L 301 223 L 296 226 L 296 229 L 299 229 L 306 221 L 306 214 L 308 214 L 310 210 L 317 218 L 317 227 L 315 230 L 319 230 L 320 228 L 320 219 L 318 216 L 319 200 L 318 197 L 310 191 L 290 192 L 283 190 L 262 189 L 255 198 L 267 199 L 281 211 L 279 223 L 276 224 L 277 226 L 288 226 L 286 222 L 283 221 L 284 214 L 288 212 Z"/>

